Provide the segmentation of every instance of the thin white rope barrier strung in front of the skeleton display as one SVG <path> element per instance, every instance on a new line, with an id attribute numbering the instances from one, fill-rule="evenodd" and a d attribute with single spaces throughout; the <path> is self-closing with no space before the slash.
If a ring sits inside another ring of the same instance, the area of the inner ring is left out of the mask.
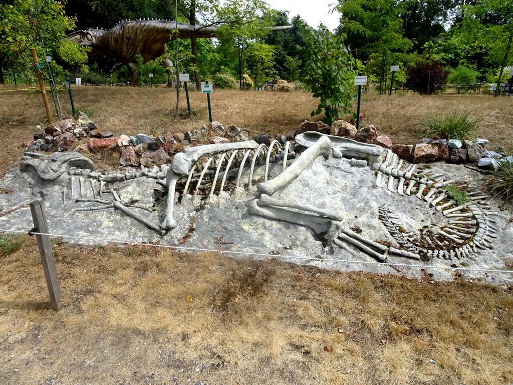
<path id="1" fill-rule="evenodd" d="M 21 234 L 27 234 L 27 232 L 18 231 L 18 230 L 5 230 L 0 229 L 0 232 L 6 232 L 6 233 L 21 233 Z M 231 251 L 231 250 L 218 250 L 218 249 L 210 249 L 210 248 L 200 248 L 200 247 L 187 247 L 187 246 L 173 246 L 173 245 L 160 245 L 160 244 L 152 244 L 152 243 L 141 243 L 141 242 L 127 242 L 127 241 L 120 241 L 120 240 L 109 240 L 109 239 L 97 239 L 97 238 L 84 238 L 84 237 L 74 237 L 70 235 L 57 235 L 57 234 L 47 234 L 47 233 L 35 233 L 28 232 L 29 235 L 46 235 L 50 237 L 55 238 L 68 238 L 68 239 L 75 239 L 75 240 L 82 240 L 82 241 L 93 241 L 97 243 L 121 243 L 121 244 L 127 244 L 132 246 L 152 246 L 152 247 L 162 247 L 162 248 L 170 248 L 175 250 L 187 250 L 187 251 L 194 251 L 194 252 L 213 252 L 213 253 L 226 253 L 226 254 L 236 254 L 236 255 L 243 255 L 243 256 L 259 256 L 259 257 L 266 257 L 269 258 L 269 254 L 262 254 L 262 253 L 249 253 L 249 252 L 237 252 L 237 251 Z M 472 268 L 472 267 L 450 267 L 450 266 L 431 266 L 431 265 L 418 265 L 418 264 L 408 264 L 408 263 L 394 263 L 394 262 L 371 262 L 371 261 L 356 261 L 356 260 L 349 260 L 349 259 L 332 259 L 332 258 L 312 258 L 312 257 L 303 257 L 303 256 L 296 256 L 296 255 L 289 255 L 284 254 L 283 257 L 291 258 L 291 259 L 298 259 L 298 260 L 315 260 L 319 262 L 345 262 L 345 263 L 355 263 L 355 264 L 365 264 L 365 265 L 389 265 L 389 266 L 397 266 L 397 267 L 415 267 L 415 268 L 434 268 L 434 269 L 442 269 L 442 270 L 450 270 L 450 271 L 468 271 L 468 272 L 485 272 L 485 273 L 509 273 L 513 274 L 512 270 L 499 270 L 499 269 L 489 269 L 489 268 Z"/>

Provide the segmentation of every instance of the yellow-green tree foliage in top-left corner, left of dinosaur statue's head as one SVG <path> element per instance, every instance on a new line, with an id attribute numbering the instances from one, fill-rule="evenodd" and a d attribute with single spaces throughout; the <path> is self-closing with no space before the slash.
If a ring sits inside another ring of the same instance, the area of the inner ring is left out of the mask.
<path id="1" fill-rule="evenodd" d="M 42 56 L 42 42 L 48 54 L 60 52 L 65 32 L 74 27 L 74 20 L 64 13 L 65 1 L 14 0 L 0 5 L 0 83 L 8 68 L 24 69 L 32 64 L 30 48 Z M 63 47 L 63 56 L 70 61 L 85 59 L 78 49 Z"/>

